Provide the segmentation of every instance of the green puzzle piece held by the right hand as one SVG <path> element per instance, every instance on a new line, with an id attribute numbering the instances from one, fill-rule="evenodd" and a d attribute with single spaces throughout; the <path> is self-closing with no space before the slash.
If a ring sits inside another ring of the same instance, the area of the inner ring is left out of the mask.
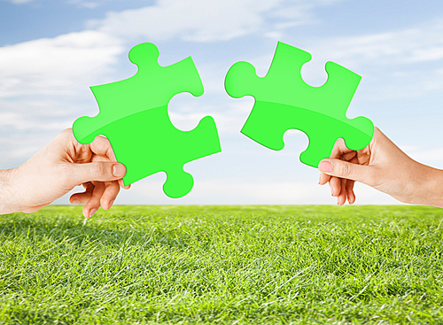
<path id="1" fill-rule="evenodd" d="M 260 78 L 247 62 L 237 62 L 226 75 L 225 88 L 231 97 L 255 97 L 253 111 L 242 133 L 273 150 L 284 148 L 284 133 L 291 128 L 303 131 L 309 138 L 300 160 L 317 167 L 329 158 L 339 138 L 350 150 L 366 147 L 374 125 L 365 117 L 346 118 L 361 77 L 333 62 L 325 69 L 328 81 L 321 87 L 307 85 L 301 67 L 311 55 L 285 43 L 278 43 L 268 74 Z"/>

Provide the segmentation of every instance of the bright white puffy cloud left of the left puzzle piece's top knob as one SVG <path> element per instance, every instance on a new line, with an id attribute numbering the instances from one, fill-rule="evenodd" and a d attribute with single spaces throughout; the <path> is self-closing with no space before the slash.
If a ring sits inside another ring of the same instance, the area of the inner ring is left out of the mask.
<path id="1" fill-rule="evenodd" d="M 110 72 L 121 41 L 97 31 L 0 48 L 0 97 L 73 94 Z"/>

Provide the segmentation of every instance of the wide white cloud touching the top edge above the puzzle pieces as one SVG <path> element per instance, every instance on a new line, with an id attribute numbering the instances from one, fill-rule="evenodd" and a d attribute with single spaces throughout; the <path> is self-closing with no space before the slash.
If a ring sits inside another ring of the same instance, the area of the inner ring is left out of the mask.
<path id="1" fill-rule="evenodd" d="M 227 41 L 270 29 L 311 22 L 311 11 L 324 0 L 159 0 L 157 4 L 124 12 L 110 12 L 89 27 L 111 35 L 138 36 L 159 41 L 179 38 L 191 42 Z M 278 17 L 278 24 L 267 18 Z M 283 24 L 283 25 L 282 25 Z"/>

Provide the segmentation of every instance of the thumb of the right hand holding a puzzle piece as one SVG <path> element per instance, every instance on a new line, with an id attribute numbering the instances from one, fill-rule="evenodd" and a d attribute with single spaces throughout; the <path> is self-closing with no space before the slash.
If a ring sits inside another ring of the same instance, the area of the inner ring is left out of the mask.
<path id="1" fill-rule="evenodd" d="M 330 176 L 346 178 L 367 185 L 371 185 L 374 179 L 372 167 L 353 164 L 340 159 L 323 159 L 318 164 L 318 169 Z"/>

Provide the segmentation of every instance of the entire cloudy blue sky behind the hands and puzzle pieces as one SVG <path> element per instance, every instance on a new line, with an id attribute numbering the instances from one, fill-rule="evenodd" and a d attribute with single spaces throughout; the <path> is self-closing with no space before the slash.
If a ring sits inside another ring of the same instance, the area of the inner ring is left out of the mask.
<path id="1" fill-rule="evenodd" d="M 261 147 L 239 133 L 253 98 L 224 92 L 239 60 L 266 74 L 277 41 L 312 54 L 302 69 L 309 84 L 326 81 L 329 60 L 360 74 L 348 117 L 369 117 L 411 157 L 443 168 L 441 1 L 0 0 L 0 31 L 0 168 L 96 115 L 89 86 L 135 74 L 128 50 L 152 42 L 163 66 L 194 59 L 205 94 L 174 97 L 171 120 L 189 130 L 214 116 L 222 153 L 185 166 L 195 179 L 186 197 L 166 197 L 156 174 L 118 204 L 333 204 L 318 171 L 299 162 L 307 136 L 289 131 L 283 151 Z M 395 202 L 364 185 L 356 194 L 360 204 Z"/>

